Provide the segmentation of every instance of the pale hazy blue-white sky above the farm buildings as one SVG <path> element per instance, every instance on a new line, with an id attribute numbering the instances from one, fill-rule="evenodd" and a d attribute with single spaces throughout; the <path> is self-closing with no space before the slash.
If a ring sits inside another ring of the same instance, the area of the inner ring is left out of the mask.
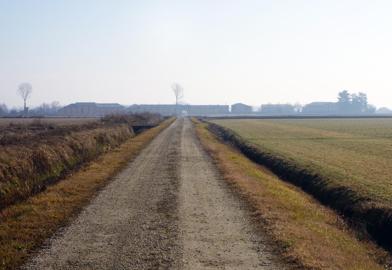
<path id="1" fill-rule="evenodd" d="M 0 103 L 260 106 L 337 101 L 392 108 L 392 1 L 0 0 Z"/>

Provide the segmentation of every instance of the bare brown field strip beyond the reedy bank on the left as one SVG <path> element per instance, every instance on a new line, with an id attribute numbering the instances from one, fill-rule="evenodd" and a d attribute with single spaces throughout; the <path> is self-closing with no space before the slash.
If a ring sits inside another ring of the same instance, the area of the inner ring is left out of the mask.
<path id="1" fill-rule="evenodd" d="M 100 120 L 100 117 L 74 117 L 74 118 L 42 118 L 42 120 L 49 125 L 69 125 L 69 124 L 83 124 L 91 120 Z M 26 125 L 33 121 L 32 118 L 0 118 L 0 127 L 9 126 L 13 124 L 16 126 Z"/>

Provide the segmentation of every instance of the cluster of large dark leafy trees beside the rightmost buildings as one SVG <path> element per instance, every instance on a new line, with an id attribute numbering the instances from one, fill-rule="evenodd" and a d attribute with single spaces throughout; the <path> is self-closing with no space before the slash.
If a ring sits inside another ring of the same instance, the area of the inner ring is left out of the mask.
<path id="1" fill-rule="evenodd" d="M 374 113 L 376 111 L 376 106 L 368 104 L 367 95 L 362 92 L 350 94 L 347 90 L 343 90 L 338 94 L 338 102 L 342 113 Z"/>

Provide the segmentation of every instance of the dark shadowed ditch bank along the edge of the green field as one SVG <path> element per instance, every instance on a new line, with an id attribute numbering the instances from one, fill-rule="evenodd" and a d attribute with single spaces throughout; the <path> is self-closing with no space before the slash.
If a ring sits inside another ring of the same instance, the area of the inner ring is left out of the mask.
<path id="1" fill-rule="evenodd" d="M 388 249 L 392 247 L 392 205 L 389 202 L 372 197 L 360 186 L 339 182 L 252 144 L 229 128 L 199 120 L 207 122 L 209 131 L 233 143 L 252 161 L 266 166 L 281 179 L 299 186 L 321 203 L 337 210 L 358 229 L 362 237 L 368 234 L 376 243 Z"/>

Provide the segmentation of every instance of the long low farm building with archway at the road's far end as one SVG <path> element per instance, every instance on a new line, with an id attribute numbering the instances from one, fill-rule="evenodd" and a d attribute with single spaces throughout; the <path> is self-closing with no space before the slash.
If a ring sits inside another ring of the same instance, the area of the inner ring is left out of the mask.
<path id="1" fill-rule="evenodd" d="M 180 115 L 186 111 L 190 115 L 211 115 L 211 114 L 228 114 L 229 105 L 176 105 L 172 104 L 133 104 L 125 110 L 125 113 L 141 113 L 148 111 L 150 113 L 160 113 L 162 115 Z"/>

